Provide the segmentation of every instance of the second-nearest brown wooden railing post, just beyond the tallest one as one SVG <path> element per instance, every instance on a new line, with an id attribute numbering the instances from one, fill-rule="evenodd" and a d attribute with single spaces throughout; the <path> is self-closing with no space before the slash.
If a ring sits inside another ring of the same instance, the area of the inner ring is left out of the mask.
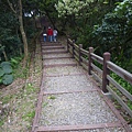
<path id="1" fill-rule="evenodd" d="M 91 75 L 91 64 L 92 64 L 92 58 L 91 58 L 91 53 L 94 53 L 94 47 L 89 47 L 89 52 L 88 52 L 88 74 Z"/>

